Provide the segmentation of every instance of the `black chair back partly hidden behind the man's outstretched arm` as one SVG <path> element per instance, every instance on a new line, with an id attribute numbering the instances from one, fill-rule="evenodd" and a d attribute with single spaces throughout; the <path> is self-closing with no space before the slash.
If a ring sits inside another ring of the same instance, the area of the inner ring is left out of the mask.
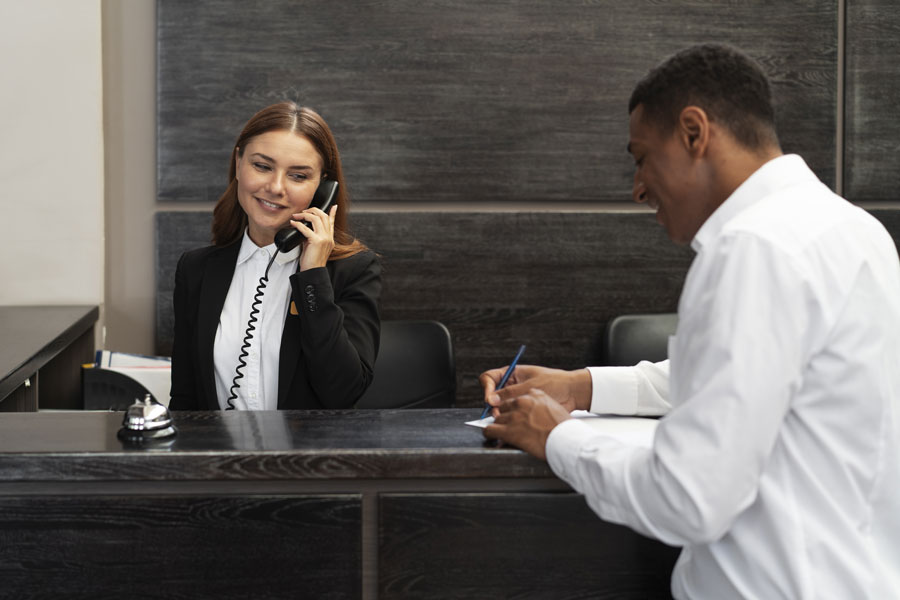
<path id="1" fill-rule="evenodd" d="M 676 313 L 620 315 L 603 334 L 603 359 L 609 366 L 630 367 L 642 360 L 657 362 L 669 354 L 669 336 L 678 326 Z"/>

